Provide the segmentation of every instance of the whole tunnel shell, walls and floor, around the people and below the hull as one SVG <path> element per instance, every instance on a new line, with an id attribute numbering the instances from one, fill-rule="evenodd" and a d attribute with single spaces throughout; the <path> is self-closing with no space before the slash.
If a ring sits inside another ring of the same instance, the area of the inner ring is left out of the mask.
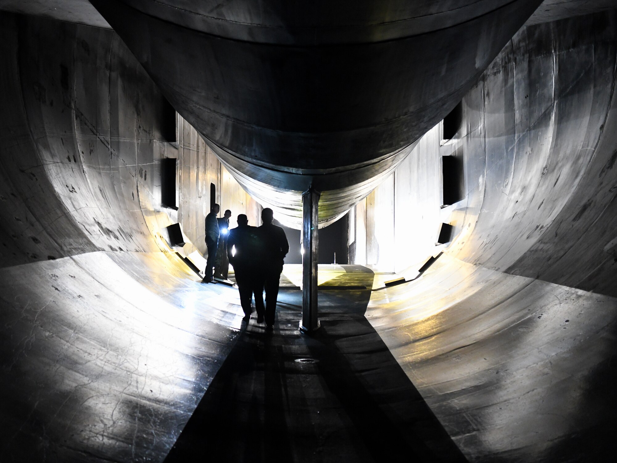
<path id="1" fill-rule="evenodd" d="M 262 206 L 102 17 L 0 12 L 0 460 L 607 461 L 617 12 L 553 3 L 331 226 L 316 337 L 294 264 L 270 337 L 199 283 Z"/>

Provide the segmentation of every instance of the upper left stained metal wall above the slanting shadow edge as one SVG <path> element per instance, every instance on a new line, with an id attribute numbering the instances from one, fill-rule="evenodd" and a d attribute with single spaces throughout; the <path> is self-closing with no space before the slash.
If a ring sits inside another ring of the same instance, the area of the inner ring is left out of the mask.
<path id="1" fill-rule="evenodd" d="M 204 253 L 210 182 L 223 210 L 249 211 L 255 223 L 256 204 L 193 127 L 178 117 L 178 142 L 165 141 L 169 107 L 113 31 L 0 20 L 2 265 L 167 250 L 162 229 L 178 220 Z M 178 211 L 160 201 L 166 157 L 178 158 Z"/>

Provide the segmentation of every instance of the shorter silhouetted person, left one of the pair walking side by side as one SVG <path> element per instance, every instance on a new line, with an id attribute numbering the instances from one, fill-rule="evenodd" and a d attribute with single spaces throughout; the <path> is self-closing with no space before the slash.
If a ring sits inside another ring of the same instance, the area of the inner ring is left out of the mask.
<path id="1" fill-rule="evenodd" d="M 244 318 L 251 318 L 251 299 L 253 293 L 259 290 L 257 275 L 259 274 L 259 257 L 255 249 L 259 247 L 257 239 L 257 227 L 249 226 L 246 215 L 238 216 L 238 227 L 229 232 L 227 239 L 227 256 L 233 265 L 236 274 L 236 284 L 240 293 L 240 304 L 244 311 Z M 263 291 L 263 289 L 262 289 Z M 257 305 L 258 298 L 262 298 L 262 304 Z M 258 308 L 257 318 L 263 321 L 263 296 L 255 292 L 255 306 Z"/>

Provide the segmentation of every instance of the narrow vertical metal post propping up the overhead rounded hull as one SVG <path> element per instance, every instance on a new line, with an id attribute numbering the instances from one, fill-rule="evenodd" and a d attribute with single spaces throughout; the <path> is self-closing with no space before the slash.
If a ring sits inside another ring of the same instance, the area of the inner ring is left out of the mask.
<path id="1" fill-rule="evenodd" d="M 300 331 L 319 328 L 317 318 L 317 230 L 320 192 L 309 188 L 302 195 L 302 322 Z"/>

